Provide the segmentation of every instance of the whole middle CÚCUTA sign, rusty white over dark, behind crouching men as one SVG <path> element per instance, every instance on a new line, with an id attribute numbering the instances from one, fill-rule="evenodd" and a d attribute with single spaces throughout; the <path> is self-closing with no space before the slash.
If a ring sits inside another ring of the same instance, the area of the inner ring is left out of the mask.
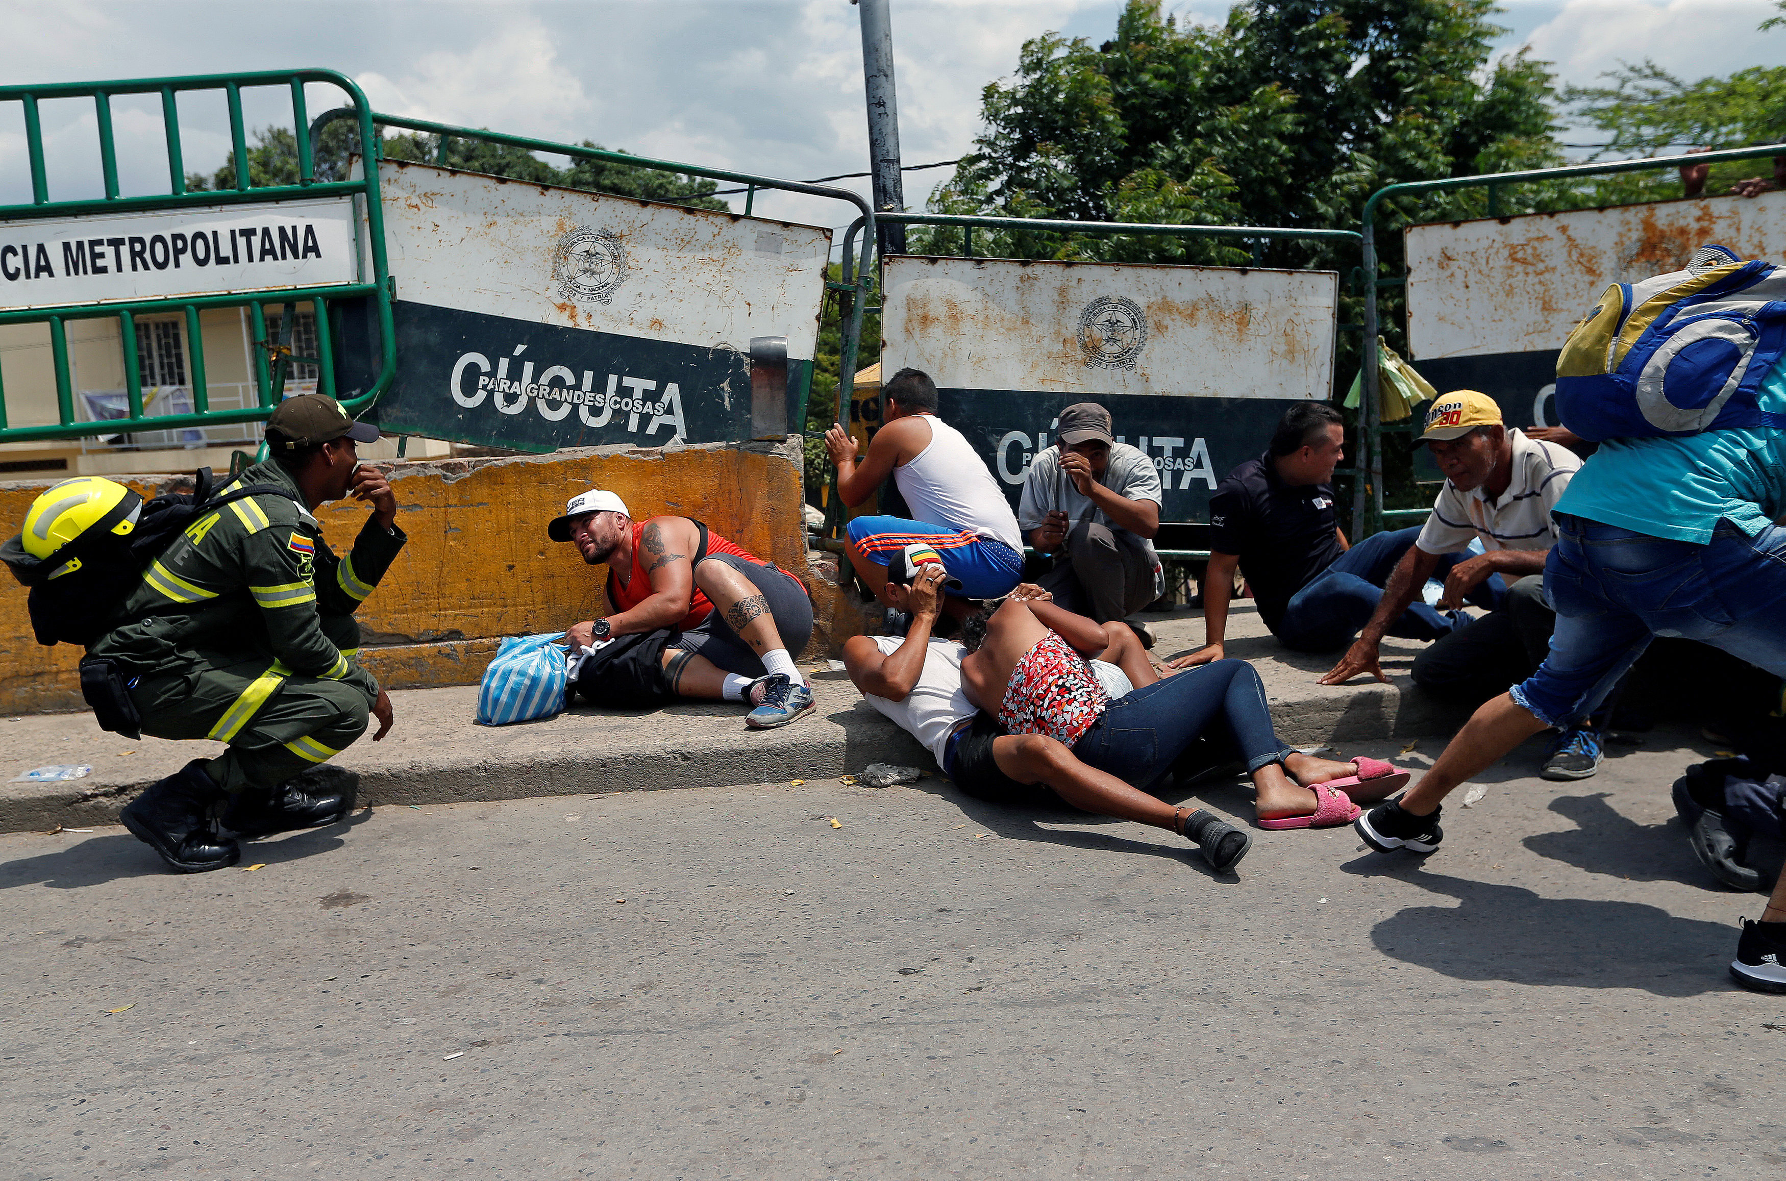
<path id="1" fill-rule="evenodd" d="M 1014 506 L 1073 402 L 1154 461 L 1163 520 L 1264 450 L 1284 407 L 1332 388 L 1334 272 L 1014 259 L 886 261 L 880 373 L 913 366 Z"/>

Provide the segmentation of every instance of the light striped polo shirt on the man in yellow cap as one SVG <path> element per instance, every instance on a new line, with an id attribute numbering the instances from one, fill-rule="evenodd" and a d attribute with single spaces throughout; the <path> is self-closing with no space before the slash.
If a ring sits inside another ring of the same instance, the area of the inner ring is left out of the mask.
<path id="1" fill-rule="evenodd" d="M 1488 550 L 1548 550 L 1557 540 L 1550 513 L 1581 468 L 1581 457 L 1566 447 L 1525 438 L 1518 427 L 1507 429 L 1513 443 L 1513 482 L 1490 500 L 1481 488 L 1457 491 L 1450 481 L 1432 502 L 1432 515 L 1416 545 L 1429 554 L 1456 554 L 1482 538 Z"/>

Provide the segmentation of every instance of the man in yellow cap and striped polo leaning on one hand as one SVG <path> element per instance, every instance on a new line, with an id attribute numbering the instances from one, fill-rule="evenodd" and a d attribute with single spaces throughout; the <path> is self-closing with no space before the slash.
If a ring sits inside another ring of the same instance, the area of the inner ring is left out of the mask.
<path id="1" fill-rule="evenodd" d="M 1473 708 L 1525 681 L 1550 650 L 1556 611 L 1545 600 L 1543 574 L 1557 540 L 1552 511 L 1581 459 L 1566 447 L 1506 427 L 1495 400 L 1473 389 L 1438 398 L 1416 441 L 1432 452 L 1445 486 L 1415 545 L 1390 574 L 1377 611 L 1320 683 L 1341 684 L 1361 672 L 1388 681 L 1377 650 L 1390 620 L 1420 595 L 1443 554 L 1481 541 L 1481 554 L 1441 575 L 1440 607 L 1463 606 L 1463 597 L 1490 575 L 1509 582 L 1504 600 L 1473 625 L 1440 638 L 1413 666 L 1422 690 Z M 1552 750 L 1545 777 L 1586 779 L 1598 765 L 1598 736 L 1572 725 Z"/>

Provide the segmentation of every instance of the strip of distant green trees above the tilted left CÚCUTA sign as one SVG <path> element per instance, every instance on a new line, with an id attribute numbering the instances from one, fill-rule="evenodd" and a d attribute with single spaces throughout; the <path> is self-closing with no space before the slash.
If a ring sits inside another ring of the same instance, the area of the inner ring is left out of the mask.
<path id="1" fill-rule="evenodd" d="M 600 145 L 584 139 L 580 147 L 595 148 Z M 439 138 L 425 134 L 386 136 L 380 150 L 386 159 L 434 163 L 439 159 Z M 316 145 L 316 179 L 345 180 L 350 161 L 357 152 L 357 129 L 346 120 L 329 123 L 323 129 L 321 141 Z M 255 130 L 246 159 L 248 184 L 255 188 L 298 182 L 298 141 L 288 127 L 261 127 Z M 568 168 L 555 168 L 532 152 L 484 139 L 448 139 L 446 166 L 463 172 L 480 172 L 491 177 L 532 180 L 536 184 L 561 184 L 573 189 L 613 193 L 616 197 L 673 202 L 693 209 L 730 211 L 725 200 L 713 197 L 713 191 L 718 188 L 713 180 L 591 159 L 572 159 Z M 223 166 L 209 177 L 204 173 L 188 173 L 186 188 L 193 191 L 236 188 L 236 154 L 230 152 Z"/>

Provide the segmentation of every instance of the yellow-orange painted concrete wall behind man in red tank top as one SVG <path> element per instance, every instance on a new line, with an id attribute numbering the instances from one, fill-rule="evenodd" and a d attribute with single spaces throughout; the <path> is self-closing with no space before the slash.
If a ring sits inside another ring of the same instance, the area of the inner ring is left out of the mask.
<path id="1" fill-rule="evenodd" d="M 547 540 L 547 522 L 586 488 L 618 493 L 634 520 L 693 516 L 791 570 L 813 590 L 813 650 L 859 629 L 854 611 L 834 611 L 838 588 L 807 568 L 798 440 L 434 459 L 389 472 L 409 545 L 359 609 L 361 659 L 388 688 L 475 684 L 502 636 L 605 615 L 607 566 L 588 566 L 573 545 Z M 173 479 L 129 482 L 152 497 Z M 52 482 L 0 484 L 0 527 L 16 529 Z M 318 511 L 336 552 L 354 543 L 366 513 L 354 500 Z M 77 649 L 32 638 L 23 586 L 0 590 L 0 713 L 82 709 L 79 659 Z"/>

